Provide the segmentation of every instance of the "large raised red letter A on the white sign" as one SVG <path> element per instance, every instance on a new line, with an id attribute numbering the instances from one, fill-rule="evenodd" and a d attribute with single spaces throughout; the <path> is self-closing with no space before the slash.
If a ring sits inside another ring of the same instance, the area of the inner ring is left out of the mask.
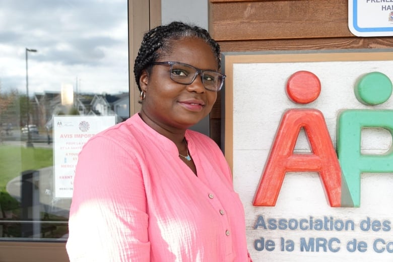
<path id="1" fill-rule="evenodd" d="M 302 127 L 312 153 L 293 154 Z M 331 207 L 341 206 L 340 164 L 319 110 L 290 109 L 283 114 L 253 205 L 275 206 L 285 173 L 296 171 L 319 172 Z"/>

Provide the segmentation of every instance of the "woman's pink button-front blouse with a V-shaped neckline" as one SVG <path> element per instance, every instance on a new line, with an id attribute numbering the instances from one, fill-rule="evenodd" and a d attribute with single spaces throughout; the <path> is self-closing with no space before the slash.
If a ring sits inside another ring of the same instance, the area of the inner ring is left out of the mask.
<path id="1" fill-rule="evenodd" d="M 138 114 L 79 154 L 67 251 L 74 261 L 250 261 L 243 206 L 210 138 L 187 130 L 198 176 Z"/>

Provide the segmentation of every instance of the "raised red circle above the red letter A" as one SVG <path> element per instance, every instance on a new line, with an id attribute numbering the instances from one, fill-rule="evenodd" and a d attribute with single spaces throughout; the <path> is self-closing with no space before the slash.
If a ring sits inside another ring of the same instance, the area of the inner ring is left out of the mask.
<path id="1" fill-rule="evenodd" d="M 311 103 L 320 94 L 319 78 L 311 72 L 298 71 L 289 77 L 286 92 L 289 99 L 295 103 Z"/>

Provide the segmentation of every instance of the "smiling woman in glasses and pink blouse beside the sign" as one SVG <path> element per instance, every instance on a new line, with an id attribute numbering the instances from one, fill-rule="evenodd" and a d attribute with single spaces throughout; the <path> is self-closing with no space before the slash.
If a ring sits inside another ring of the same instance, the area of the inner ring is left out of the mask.
<path id="1" fill-rule="evenodd" d="M 79 155 L 71 261 L 250 261 L 244 211 L 210 138 L 187 129 L 222 87 L 220 47 L 180 22 L 145 34 L 134 74 L 140 113 Z"/>

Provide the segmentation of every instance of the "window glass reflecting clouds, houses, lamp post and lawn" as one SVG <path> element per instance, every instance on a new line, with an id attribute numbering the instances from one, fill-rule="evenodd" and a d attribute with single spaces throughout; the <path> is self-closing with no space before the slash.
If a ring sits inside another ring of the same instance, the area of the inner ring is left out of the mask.
<path id="1" fill-rule="evenodd" d="M 67 240 L 53 119 L 129 117 L 127 32 L 126 0 L 2 2 L 0 240 Z"/>

